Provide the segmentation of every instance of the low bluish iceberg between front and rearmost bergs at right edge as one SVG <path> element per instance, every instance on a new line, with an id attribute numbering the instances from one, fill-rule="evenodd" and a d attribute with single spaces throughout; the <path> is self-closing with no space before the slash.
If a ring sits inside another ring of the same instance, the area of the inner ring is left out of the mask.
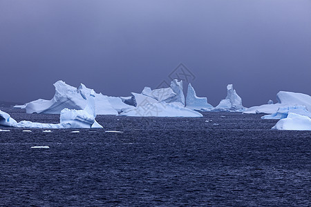
<path id="1" fill-rule="evenodd" d="M 288 117 L 289 113 L 295 113 L 297 115 L 303 115 L 311 118 L 311 112 L 309 112 L 305 106 L 300 105 L 279 108 L 272 115 L 265 115 L 261 117 L 261 119 L 285 119 L 286 117 Z"/>

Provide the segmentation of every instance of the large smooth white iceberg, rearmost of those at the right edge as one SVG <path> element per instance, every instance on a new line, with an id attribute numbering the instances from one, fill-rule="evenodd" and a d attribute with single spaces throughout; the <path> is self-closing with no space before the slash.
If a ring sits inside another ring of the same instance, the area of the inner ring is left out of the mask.
<path id="1" fill-rule="evenodd" d="M 305 108 L 311 112 L 311 97 L 299 92 L 286 92 L 280 91 L 276 95 L 278 103 L 263 104 L 261 106 L 253 106 L 244 111 L 245 114 L 273 114 L 276 113 L 279 108 L 286 108 L 291 106 L 305 106 Z"/>

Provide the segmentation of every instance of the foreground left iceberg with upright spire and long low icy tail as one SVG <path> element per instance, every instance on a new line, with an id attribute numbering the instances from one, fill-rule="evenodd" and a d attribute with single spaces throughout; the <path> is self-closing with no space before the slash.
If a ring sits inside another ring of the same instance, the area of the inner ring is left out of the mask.
<path id="1" fill-rule="evenodd" d="M 1 125 L 16 128 L 102 128 L 102 126 L 95 121 L 95 92 L 93 90 L 90 92 L 84 110 L 64 108 L 60 112 L 59 124 L 42 124 L 32 121 L 20 121 L 17 123 L 14 119 L 8 117 L 9 115 L 5 112 L 0 115 L 1 117 L 6 117 L 6 122 L 10 122 L 8 125 L 6 123 L 3 124 L 2 121 L 0 121 Z"/>

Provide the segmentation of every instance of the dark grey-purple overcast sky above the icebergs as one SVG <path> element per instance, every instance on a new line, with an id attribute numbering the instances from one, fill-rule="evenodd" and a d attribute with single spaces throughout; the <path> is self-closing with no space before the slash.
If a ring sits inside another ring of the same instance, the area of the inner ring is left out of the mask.
<path id="1" fill-rule="evenodd" d="M 128 96 L 179 63 L 214 106 L 228 83 L 244 106 L 311 95 L 311 1 L 0 0 L 0 101 L 51 99 L 59 79 Z"/>

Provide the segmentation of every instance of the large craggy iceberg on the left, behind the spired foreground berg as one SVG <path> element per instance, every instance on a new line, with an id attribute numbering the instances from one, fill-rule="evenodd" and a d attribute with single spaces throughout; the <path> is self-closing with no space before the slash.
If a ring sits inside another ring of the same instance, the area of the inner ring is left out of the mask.
<path id="1" fill-rule="evenodd" d="M 64 81 L 54 83 L 55 95 L 53 99 L 38 99 L 25 104 L 27 113 L 60 114 L 64 108 L 82 110 L 86 106 L 86 99 L 92 89 L 81 83 L 79 88 L 69 86 Z M 132 108 L 123 103 L 119 97 L 107 97 L 102 93 L 95 93 L 97 115 L 117 115 L 124 109 Z M 18 107 L 18 106 L 17 106 Z M 19 106 L 21 107 L 21 106 Z"/>

